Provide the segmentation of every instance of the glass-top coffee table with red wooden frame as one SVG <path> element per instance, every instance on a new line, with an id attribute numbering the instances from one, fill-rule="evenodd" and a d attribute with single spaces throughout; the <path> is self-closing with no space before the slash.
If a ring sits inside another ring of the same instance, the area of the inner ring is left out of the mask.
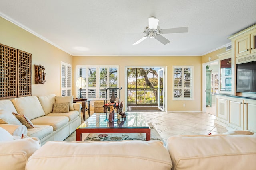
<path id="1" fill-rule="evenodd" d="M 76 141 L 81 141 L 82 133 L 146 133 L 150 140 L 150 127 L 141 113 L 126 113 L 126 118 L 108 121 L 108 113 L 94 113 L 76 129 Z"/>

